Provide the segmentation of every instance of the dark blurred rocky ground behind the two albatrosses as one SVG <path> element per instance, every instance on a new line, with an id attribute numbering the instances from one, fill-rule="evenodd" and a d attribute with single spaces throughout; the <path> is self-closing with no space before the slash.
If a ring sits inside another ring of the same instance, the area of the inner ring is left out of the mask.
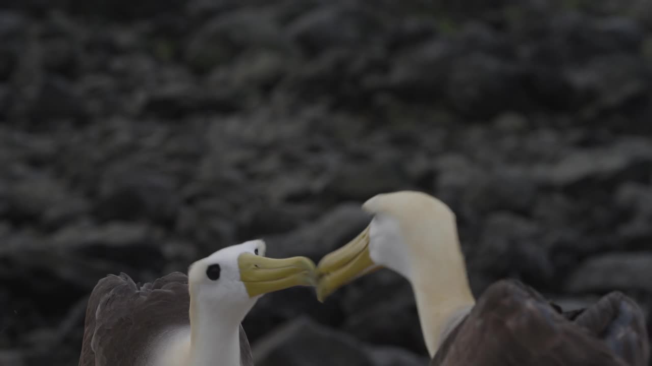
<path id="1" fill-rule="evenodd" d="M 650 316 L 650 117 L 647 0 L 3 0 L 0 364 L 76 365 L 108 273 L 259 236 L 319 260 L 400 189 L 458 214 L 476 293 Z M 427 361 L 389 271 L 244 328 L 261 366 Z"/>

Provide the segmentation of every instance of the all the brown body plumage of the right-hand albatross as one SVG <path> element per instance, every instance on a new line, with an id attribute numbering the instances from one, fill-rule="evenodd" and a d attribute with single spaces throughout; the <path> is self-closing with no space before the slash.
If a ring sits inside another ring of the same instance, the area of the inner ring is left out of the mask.
<path id="1" fill-rule="evenodd" d="M 494 283 L 443 341 L 431 366 L 647 366 L 644 315 L 611 292 L 581 311 L 561 312 L 515 280 Z"/>

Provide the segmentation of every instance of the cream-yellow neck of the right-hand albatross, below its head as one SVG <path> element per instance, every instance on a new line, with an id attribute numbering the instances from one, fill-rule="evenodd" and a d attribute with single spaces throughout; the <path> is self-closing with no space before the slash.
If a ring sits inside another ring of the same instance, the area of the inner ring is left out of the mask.
<path id="1" fill-rule="evenodd" d="M 411 256 L 409 278 L 430 357 L 436 354 L 456 322 L 475 304 L 457 232 L 438 231 L 436 239 L 436 246 L 421 246 L 426 253 Z M 434 238 L 428 235 L 406 240 L 428 243 Z"/>

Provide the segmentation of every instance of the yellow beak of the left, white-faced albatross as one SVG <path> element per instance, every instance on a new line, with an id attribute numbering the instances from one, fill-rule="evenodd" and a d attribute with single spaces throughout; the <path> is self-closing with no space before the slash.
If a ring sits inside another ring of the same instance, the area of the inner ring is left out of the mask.
<path id="1" fill-rule="evenodd" d="M 306 257 L 274 259 L 252 253 L 238 257 L 240 280 L 250 297 L 295 286 L 315 286 L 315 264 Z"/>

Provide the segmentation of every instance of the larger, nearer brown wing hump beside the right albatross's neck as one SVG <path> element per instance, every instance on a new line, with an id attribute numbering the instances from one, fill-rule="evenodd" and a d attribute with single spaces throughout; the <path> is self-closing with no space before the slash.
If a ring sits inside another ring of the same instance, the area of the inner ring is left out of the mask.
<path id="1" fill-rule="evenodd" d="M 625 366 L 606 344 L 519 281 L 489 287 L 430 365 Z"/>

